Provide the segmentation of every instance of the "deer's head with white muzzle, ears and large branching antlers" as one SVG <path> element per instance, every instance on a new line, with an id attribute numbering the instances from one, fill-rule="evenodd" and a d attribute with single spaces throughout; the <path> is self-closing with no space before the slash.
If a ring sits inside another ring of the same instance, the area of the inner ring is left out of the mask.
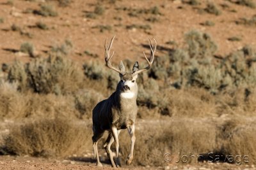
<path id="1" fill-rule="evenodd" d="M 152 67 L 153 61 L 154 61 L 154 53 L 156 52 L 156 39 L 154 39 L 155 41 L 155 46 L 152 45 L 150 39 L 149 39 L 149 43 L 150 43 L 150 59 L 148 60 L 147 56 L 145 55 L 145 52 L 143 52 L 145 59 L 147 60 L 148 66 L 143 68 L 143 69 L 139 69 L 139 63 L 138 61 L 136 61 L 132 67 L 132 71 L 131 72 L 127 72 L 125 71 L 125 67 L 124 67 L 124 63 L 122 62 L 122 60 L 119 63 L 118 69 L 113 67 L 111 64 L 111 58 L 113 57 L 114 53 L 112 55 L 109 55 L 110 53 L 110 48 L 113 44 L 113 41 L 115 39 L 115 36 L 111 39 L 109 45 L 107 46 L 106 41 L 105 41 L 105 61 L 106 61 L 106 65 L 109 67 L 109 69 L 113 69 L 114 71 L 116 71 L 117 73 L 119 73 L 120 76 L 120 81 L 118 83 L 118 85 L 120 86 L 120 90 L 122 90 L 122 92 L 133 92 L 135 89 L 137 90 L 137 83 L 136 83 L 136 79 L 138 78 L 138 74 L 146 71 L 148 69 L 150 69 Z"/>

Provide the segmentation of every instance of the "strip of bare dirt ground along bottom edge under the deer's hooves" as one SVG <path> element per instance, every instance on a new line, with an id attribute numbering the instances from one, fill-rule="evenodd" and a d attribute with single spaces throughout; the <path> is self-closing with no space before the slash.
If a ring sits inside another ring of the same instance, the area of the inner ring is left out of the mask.
<path id="1" fill-rule="evenodd" d="M 36 159 L 31 157 L 1 157 L 0 159 L 0 169 L 6 170 L 15 170 L 15 169 L 114 169 L 109 164 L 103 164 L 103 167 L 95 167 L 95 164 L 92 162 L 86 161 L 73 161 L 73 160 L 49 160 L 49 159 Z M 119 167 L 118 169 L 191 169 L 191 170 L 207 170 L 207 169 L 255 169 L 254 166 L 236 166 L 234 164 L 227 163 L 198 163 L 195 165 L 175 165 L 170 164 L 163 167 L 133 167 L 133 166 L 124 166 Z"/>

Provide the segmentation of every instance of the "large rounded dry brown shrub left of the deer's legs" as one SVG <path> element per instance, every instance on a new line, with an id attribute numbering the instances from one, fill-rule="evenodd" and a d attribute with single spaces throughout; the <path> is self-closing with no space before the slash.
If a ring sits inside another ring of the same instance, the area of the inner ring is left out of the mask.
<path id="1" fill-rule="evenodd" d="M 15 155 L 65 157 L 83 152 L 91 143 L 92 131 L 84 124 L 60 118 L 14 125 L 6 136 L 4 151 Z"/>

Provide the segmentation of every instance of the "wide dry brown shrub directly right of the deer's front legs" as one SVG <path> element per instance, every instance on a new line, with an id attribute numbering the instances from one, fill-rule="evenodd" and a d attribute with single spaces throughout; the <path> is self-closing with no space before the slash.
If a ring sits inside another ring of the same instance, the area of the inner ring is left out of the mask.
<path id="1" fill-rule="evenodd" d="M 161 121 L 161 120 L 160 120 Z M 207 131 L 211 129 L 211 131 Z M 133 165 L 163 166 L 164 153 L 177 155 L 209 153 L 218 148 L 216 125 L 212 120 L 175 119 L 170 122 L 147 122 L 136 128 Z M 125 160 L 130 151 L 127 132 L 120 134 L 120 147 Z M 190 160 L 197 162 L 197 159 Z"/>

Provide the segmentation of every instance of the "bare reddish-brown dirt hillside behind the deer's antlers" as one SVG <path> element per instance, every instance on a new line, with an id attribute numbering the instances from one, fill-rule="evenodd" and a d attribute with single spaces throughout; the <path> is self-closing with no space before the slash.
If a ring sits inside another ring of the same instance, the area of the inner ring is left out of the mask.
<path id="1" fill-rule="evenodd" d="M 115 59 L 136 59 L 143 57 L 143 45 L 148 44 L 148 37 L 156 38 L 159 50 L 157 55 L 166 53 L 166 50 L 173 48 L 173 45 L 166 44 L 167 41 L 175 41 L 177 46 L 184 46 L 184 34 L 191 29 L 197 29 L 209 33 L 218 44 L 217 55 L 227 55 L 228 53 L 241 48 L 244 45 L 256 45 L 256 29 L 253 26 L 237 25 L 235 21 L 239 18 L 251 18 L 255 15 L 255 9 L 240 6 L 228 1 L 216 0 L 214 3 L 219 6 L 227 4 L 227 8 L 220 8 L 221 15 L 200 13 L 205 8 L 205 3 L 201 6 L 190 6 L 182 4 L 181 1 L 116 1 L 115 4 L 102 3 L 105 6 L 103 15 L 97 18 L 86 18 L 86 13 L 92 12 L 97 1 L 76 0 L 68 7 L 56 6 L 58 17 L 42 17 L 33 13 L 25 12 L 39 10 L 40 1 L 13 1 L 12 5 L 0 3 L 0 17 L 4 22 L 0 24 L 0 62 L 11 62 L 15 59 L 28 61 L 31 57 L 19 53 L 20 45 L 24 42 L 31 42 L 39 55 L 47 55 L 47 51 L 53 45 L 60 45 L 65 39 L 70 39 L 74 45 L 70 57 L 78 62 L 95 59 L 84 54 L 87 50 L 97 54 L 96 59 L 103 61 L 104 40 L 116 35 L 113 50 Z M 7 2 L 7 0 L 6 0 Z M 100 4 L 100 3 L 99 3 Z M 141 13 L 138 17 L 129 16 L 129 11 L 118 9 L 144 9 L 157 6 L 161 15 L 148 15 Z M 119 18 L 119 19 L 115 19 Z M 157 18 L 157 22 L 148 22 L 147 18 Z M 214 26 L 202 25 L 206 20 L 214 22 Z M 36 22 L 43 22 L 49 27 L 47 30 L 35 27 Z M 12 31 L 12 25 L 17 25 L 19 31 Z M 127 29 L 127 26 L 150 25 L 151 29 Z M 110 25 L 111 30 L 100 32 L 95 28 L 99 25 Z M 29 38 L 28 34 L 31 35 Z M 238 37 L 240 41 L 228 41 L 228 38 Z M 146 51 L 147 52 L 147 51 Z"/>

